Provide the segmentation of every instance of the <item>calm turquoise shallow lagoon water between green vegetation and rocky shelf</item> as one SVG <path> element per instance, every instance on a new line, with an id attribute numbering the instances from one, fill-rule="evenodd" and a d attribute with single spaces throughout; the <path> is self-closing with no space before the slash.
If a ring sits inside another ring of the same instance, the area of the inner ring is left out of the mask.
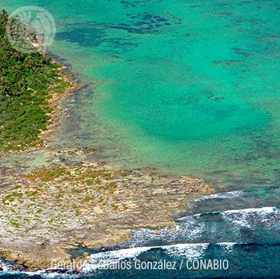
<path id="1" fill-rule="evenodd" d="M 50 10 L 51 51 L 89 84 L 55 145 L 174 175 L 279 179 L 279 1 L 4 3 Z"/>

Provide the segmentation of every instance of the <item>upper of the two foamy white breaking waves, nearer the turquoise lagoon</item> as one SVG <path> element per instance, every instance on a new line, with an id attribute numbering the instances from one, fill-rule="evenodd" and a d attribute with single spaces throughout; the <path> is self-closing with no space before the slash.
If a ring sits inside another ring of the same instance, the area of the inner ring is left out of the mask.
<path id="1" fill-rule="evenodd" d="M 280 232 L 279 218 L 280 209 L 272 206 L 194 214 L 178 218 L 174 231 L 170 231 L 165 227 L 160 231 L 142 229 L 134 232 L 133 239 L 127 241 L 127 244 L 130 247 L 135 247 L 149 246 L 149 243 L 162 240 L 166 245 L 182 241 L 200 242 L 204 235 L 207 242 L 214 242 L 215 239 L 212 236 L 215 235 L 219 236 L 222 241 L 224 239 L 223 234 L 228 235 L 227 227 L 233 229 L 230 230 L 230 237 L 233 237 L 233 235 L 244 236 L 242 227 L 254 228 L 262 226 L 264 229 L 270 227 Z M 216 220 L 219 220 L 219 223 L 222 222 L 223 225 L 217 225 Z"/>

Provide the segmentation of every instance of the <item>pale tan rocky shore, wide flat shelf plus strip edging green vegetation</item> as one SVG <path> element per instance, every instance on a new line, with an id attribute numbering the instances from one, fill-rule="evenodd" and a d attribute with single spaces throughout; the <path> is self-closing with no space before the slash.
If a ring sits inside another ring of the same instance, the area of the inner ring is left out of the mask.
<path id="1" fill-rule="evenodd" d="M 59 166 L 24 174 L 1 167 L 0 257 L 12 262 L 11 270 L 48 269 L 52 259 L 69 261 L 68 249 L 121 243 L 143 227 L 174 229 L 175 216 L 186 210 L 191 199 L 215 192 L 203 179 L 169 179 L 151 169 L 115 170 L 87 160 L 98 152 L 95 147 L 52 150 L 47 137 L 59 128 L 64 111 L 58 101 L 83 86 L 65 73 L 65 66 L 59 66 L 59 76 L 70 86 L 64 94 L 52 95 L 52 124 L 40 134 L 43 144 L 0 155 L 47 151 L 53 158 L 82 156 L 85 160 L 76 164 L 64 160 Z"/>

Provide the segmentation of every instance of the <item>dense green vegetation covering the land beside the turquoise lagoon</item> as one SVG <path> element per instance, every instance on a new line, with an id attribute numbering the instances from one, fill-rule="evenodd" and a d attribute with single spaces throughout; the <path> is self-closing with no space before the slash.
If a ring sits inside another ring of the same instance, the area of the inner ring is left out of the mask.
<path id="1" fill-rule="evenodd" d="M 0 151 L 38 144 L 50 122 L 50 98 L 66 90 L 61 66 L 47 56 L 18 52 L 8 42 L 8 14 L 0 12 Z M 17 23 L 18 24 L 18 23 Z"/>

